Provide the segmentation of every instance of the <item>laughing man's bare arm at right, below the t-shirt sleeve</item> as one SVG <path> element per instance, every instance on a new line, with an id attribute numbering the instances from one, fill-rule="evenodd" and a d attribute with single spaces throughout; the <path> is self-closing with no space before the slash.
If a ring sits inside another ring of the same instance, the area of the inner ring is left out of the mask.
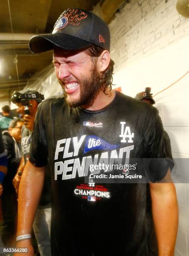
<path id="1" fill-rule="evenodd" d="M 170 181 L 170 169 L 164 178 Z M 162 181 L 163 182 L 163 181 Z M 152 214 L 156 230 L 158 255 L 174 256 L 178 229 L 178 205 L 174 184 L 150 183 Z"/>

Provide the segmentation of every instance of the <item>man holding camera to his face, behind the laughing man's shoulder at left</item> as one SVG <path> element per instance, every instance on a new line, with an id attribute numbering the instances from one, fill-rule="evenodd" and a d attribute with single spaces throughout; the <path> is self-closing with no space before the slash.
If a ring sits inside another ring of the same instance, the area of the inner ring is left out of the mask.
<path id="1" fill-rule="evenodd" d="M 21 91 L 22 94 L 28 95 L 38 95 L 39 93 L 32 89 L 26 89 Z M 34 118 L 37 112 L 37 108 L 42 99 L 40 97 L 33 98 L 33 100 L 28 101 L 28 109 L 30 111 L 30 115 L 24 115 L 24 126 L 22 128 L 22 159 L 20 162 L 20 166 L 17 169 L 17 174 L 13 179 L 13 185 L 18 193 L 20 178 L 22 176 L 22 172 L 24 169 L 27 160 L 30 157 L 30 143 L 31 143 L 31 133 L 33 131 L 33 123 Z M 15 103 L 15 102 L 14 102 Z M 22 112 L 22 103 L 15 103 L 18 108 L 17 112 L 21 114 Z M 37 239 L 38 248 L 41 256 L 50 256 L 50 220 L 51 220 L 51 180 L 50 180 L 50 172 L 46 169 L 45 182 L 42 190 L 42 195 L 40 198 L 39 205 L 37 207 L 37 212 L 35 215 L 35 220 L 33 223 L 33 230 L 35 233 L 35 237 Z"/>

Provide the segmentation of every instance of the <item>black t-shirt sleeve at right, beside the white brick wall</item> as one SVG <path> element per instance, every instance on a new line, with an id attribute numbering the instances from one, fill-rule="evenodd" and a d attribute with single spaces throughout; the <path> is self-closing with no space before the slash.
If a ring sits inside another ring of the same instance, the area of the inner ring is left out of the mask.
<path id="1" fill-rule="evenodd" d="M 169 167 L 170 169 L 174 167 L 174 161 L 169 136 L 164 131 L 158 110 L 154 108 L 153 111 L 151 120 L 148 122 L 149 127 L 146 129 L 147 158 L 145 165 L 149 180 L 159 182 L 164 179 Z"/>

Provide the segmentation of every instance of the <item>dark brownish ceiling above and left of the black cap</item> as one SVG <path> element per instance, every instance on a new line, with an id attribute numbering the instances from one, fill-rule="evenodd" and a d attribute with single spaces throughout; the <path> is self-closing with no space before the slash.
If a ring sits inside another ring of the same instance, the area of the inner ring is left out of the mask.
<path id="1" fill-rule="evenodd" d="M 1 0 L 0 101 L 9 99 L 14 90 L 22 90 L 27 79 L 50 64 L 52 52 L 31 54 L 28 41 L 37 33 L 52 32 L 55 21 L 63 10 L 69 7 L 93 10 L 94 6 L 100 3 L 104 20 L 108 23 L 123 2 L 123 0 Z"/>

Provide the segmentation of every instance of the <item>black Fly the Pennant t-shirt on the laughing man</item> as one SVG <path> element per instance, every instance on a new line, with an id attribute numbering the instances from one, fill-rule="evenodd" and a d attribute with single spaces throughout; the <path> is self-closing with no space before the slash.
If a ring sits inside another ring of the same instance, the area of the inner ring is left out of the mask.
<path id="1" fill-rule="evenodd" d="M 97 111 L 70 108 L 63 96 L 43 101 L 30 161 L 35 166 L 48 162 L 51 170 L 52 255 L 147 256 L 146 184 L 87 177 L 117 173 L 111 164 L 130 164 L 132 174 L 156 182 L 167 173 L 166 154 L 158 111 L 144 102 L 119 92 Z M 128 168 L 120 175 L 125 172 Z"/>

